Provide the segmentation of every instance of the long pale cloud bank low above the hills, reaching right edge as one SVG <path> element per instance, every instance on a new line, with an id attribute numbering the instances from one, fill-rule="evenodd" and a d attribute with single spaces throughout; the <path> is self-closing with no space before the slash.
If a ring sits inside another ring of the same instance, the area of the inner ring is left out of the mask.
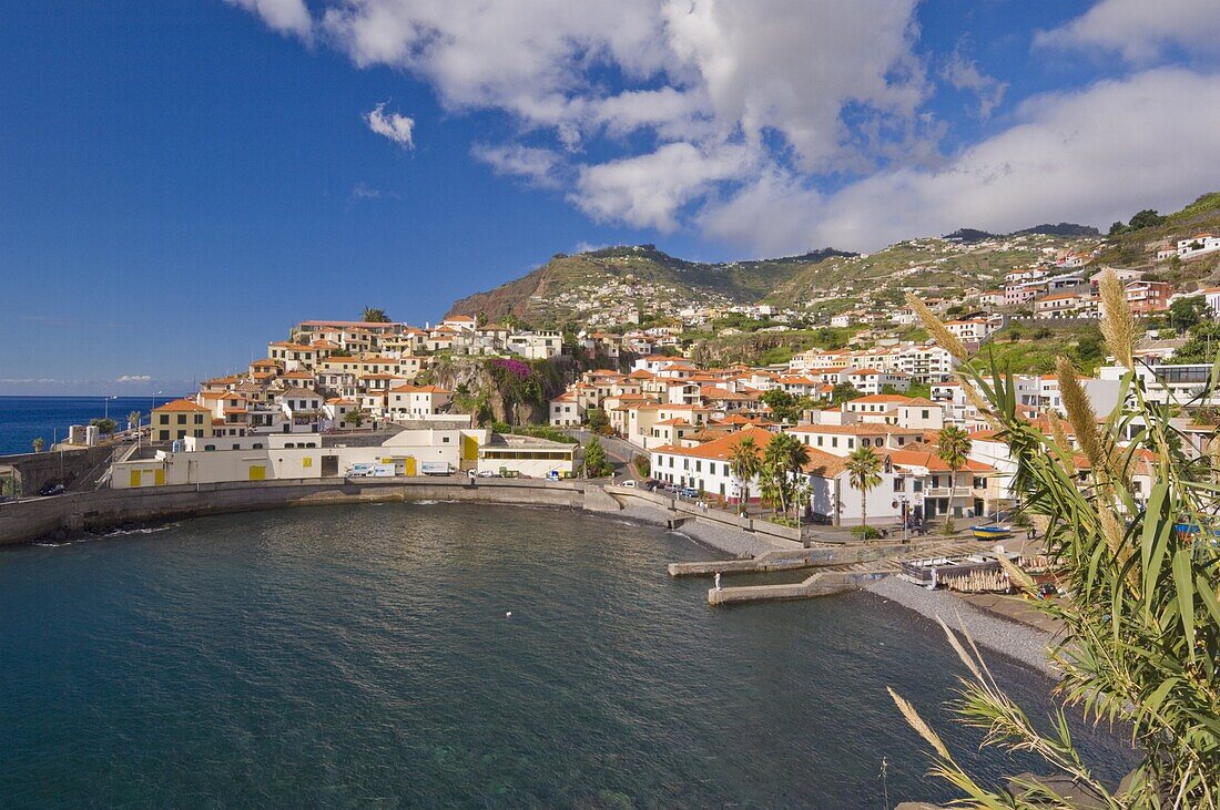
<path id="1" fill-rule="evenodd" d="M 1214 133 L 1220 76 L 1154 69 L 1031 99 L 1008 130 L 938 171 L 902 168 L 828 196 L 765 174 L 702 214 L 708 233 L 760 253 L 811 246 L 876 250 L 963 227 L 1009 231 L 1039 222 L 1108 225 L 1172 210 L 1220 188 Z M 1191 110 L 1183 125 L 1182 110 Z"/>

